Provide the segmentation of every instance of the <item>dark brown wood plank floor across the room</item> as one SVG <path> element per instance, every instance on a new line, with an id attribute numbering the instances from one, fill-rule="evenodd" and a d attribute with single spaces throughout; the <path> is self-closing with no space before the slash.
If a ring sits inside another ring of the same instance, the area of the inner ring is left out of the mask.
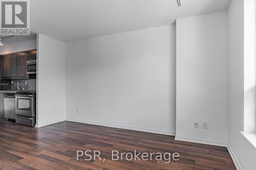
<path id="1" fill-rule="evenodd" d="M 86 161 L 77 150 L 99 150 Z M 175 153 L 180 159 L 112 161 L 111 152 Z M 105 160 L 103 161 L 103 158 Z M 236 169 L 226 148 L 175 141 L 174 136 L 73 122 L 31 128 L 0 120 L 0 169 Z"/>

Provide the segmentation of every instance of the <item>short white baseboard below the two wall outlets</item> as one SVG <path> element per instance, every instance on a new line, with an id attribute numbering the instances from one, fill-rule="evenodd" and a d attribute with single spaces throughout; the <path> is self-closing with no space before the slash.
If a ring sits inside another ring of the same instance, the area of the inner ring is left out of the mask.
<path id="1" fill-rule="evenodd" d="M 227 142 L 225 142 L 225 141 L 199 139 L 199 138 L 191 138 L 191 137 L 185 137 L 185 136 L 175 136 L 175 140 L 187 141 L 187 142 L 193 142 L 193 143 L 210 144 L 210 145 L 216 145 L 219 147 L 227 147 Z"/>

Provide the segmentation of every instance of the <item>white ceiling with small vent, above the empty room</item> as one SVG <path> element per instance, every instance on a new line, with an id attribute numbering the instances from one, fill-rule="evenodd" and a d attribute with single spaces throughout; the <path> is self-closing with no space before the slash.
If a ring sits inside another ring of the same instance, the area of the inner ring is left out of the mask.
<path id="1" fill-rule="evenodd" d="M 174 23 L 222 11 L 230 0 L 31 0 L 31 31 L 62 41 Z"/>

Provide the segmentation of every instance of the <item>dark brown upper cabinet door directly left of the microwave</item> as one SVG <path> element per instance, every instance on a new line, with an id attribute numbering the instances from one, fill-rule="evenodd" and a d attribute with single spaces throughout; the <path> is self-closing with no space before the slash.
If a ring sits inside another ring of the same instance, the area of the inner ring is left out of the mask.
<path id="1" fill-rule="evenodd" d="M 28 52 L 17 53 L 17 76 L 27 75 Z"/>

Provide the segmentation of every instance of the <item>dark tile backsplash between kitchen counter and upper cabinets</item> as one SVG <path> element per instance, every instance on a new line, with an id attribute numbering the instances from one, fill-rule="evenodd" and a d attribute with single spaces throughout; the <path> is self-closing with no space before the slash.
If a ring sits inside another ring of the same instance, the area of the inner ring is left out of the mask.
<path id="1" fill-rule="evenodd" d="M 0 90 L 36 90 L 36 79 L 1 80 Z"/>

